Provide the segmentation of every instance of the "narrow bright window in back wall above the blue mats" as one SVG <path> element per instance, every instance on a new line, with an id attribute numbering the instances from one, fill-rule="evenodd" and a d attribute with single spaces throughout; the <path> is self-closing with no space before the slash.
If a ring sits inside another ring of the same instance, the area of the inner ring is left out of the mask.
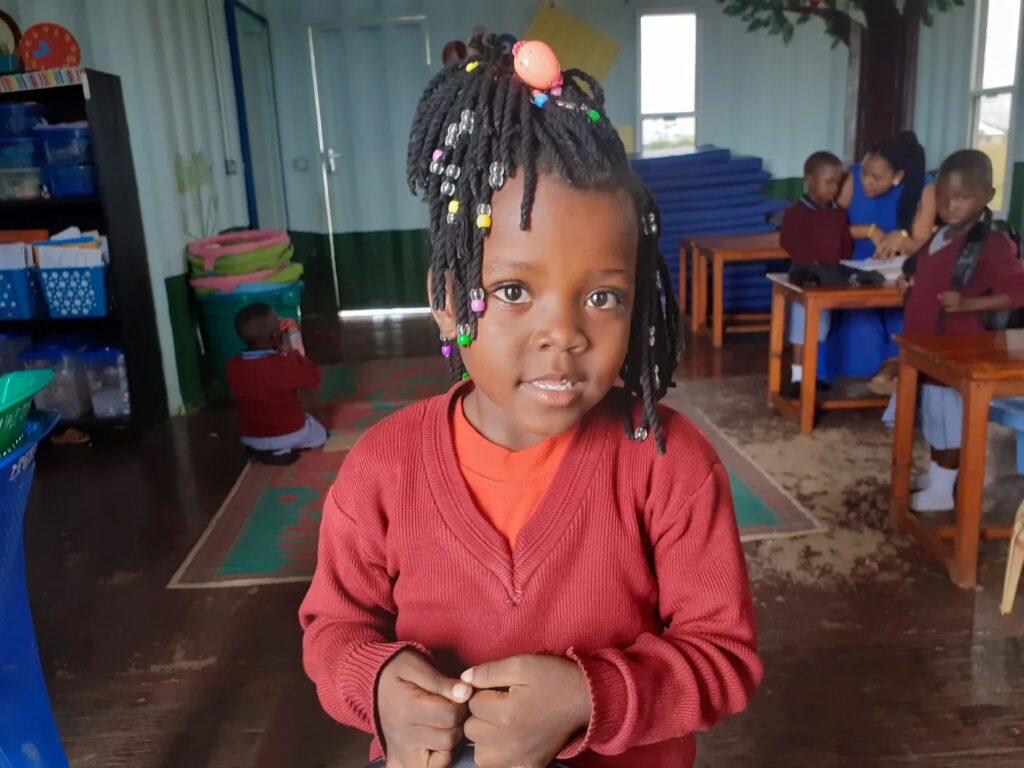
<path id="1" fill-rule="evenodd" d="M 640 148 L 696 143 L 697 15 L 640 16 Z"/>

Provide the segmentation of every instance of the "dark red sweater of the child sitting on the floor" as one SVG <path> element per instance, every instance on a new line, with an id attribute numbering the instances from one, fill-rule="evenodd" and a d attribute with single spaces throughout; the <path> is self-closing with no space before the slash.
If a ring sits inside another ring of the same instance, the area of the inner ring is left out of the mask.
<path id="1" fill-rule="evenodd" d="M 298 390 L 319 386 L 319 369 L 298 352 L 247 353 L 227 361 L 227 390 L 239 406 L 243 437 L 280 437 L 306 423 Z"/>

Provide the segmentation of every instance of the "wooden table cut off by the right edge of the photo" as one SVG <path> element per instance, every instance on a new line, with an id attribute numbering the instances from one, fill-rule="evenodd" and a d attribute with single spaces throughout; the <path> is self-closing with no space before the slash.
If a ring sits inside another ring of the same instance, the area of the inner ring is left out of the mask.
<path id="1" fill-rule="evenodd" d="M 1024 331 L 979 336 L 897 337 L 900 345 L 896 428 L 893 431 L 893 522 L 910 532 L 949 569 L 961 587 L 978 581 L 980 539 L 1010 539 L 1012 526 L 982 525 L 981 498 L 988 447 L 988 404 L 993 397 L 1024 395 Z M 910 512 L 910 465 L 919 374 L 964 397 L 961 467 L 953 525 L 932 525 Z M 952 552 L 947 542 L 952 541 Z"/>

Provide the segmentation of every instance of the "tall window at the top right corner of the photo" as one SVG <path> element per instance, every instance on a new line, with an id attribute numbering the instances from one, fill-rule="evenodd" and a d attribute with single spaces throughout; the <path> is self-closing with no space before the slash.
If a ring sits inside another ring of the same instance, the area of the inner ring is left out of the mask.
<path id="1" fill-rule="evenodd" d="M 1021 0 L 981 0 L 975 36 L 971 91 L 971 143 L 992 160 L 995 198 L 992 210 L 1010 203 L 1010 116 L 1017 78 Z"/>

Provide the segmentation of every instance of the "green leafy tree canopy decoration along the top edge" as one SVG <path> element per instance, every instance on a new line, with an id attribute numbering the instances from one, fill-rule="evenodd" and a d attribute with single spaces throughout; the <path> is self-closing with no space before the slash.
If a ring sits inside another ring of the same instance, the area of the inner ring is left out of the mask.
<path id="1" fill-rule="evenodd" d="M 872 16 L 918 14 L 931 27 L 936 12 L 963 6 L 965 0 L 717 0 L 727 16 L 746 23 L 748 32 L 766 31 L 788 44 L 797 27 L 817 17 L 824 22 L 833 47 L 850 44 L 854 25 L 868 27 Z M 880 13 L 881 12 L 881 13 Z"/>

